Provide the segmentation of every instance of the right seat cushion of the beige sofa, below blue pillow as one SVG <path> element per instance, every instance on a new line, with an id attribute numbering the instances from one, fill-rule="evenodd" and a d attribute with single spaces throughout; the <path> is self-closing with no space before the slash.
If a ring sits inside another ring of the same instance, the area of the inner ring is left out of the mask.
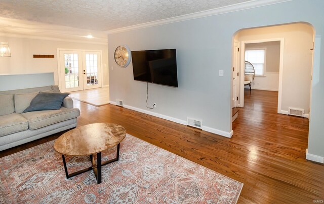
<path id="1" fill-rule="evenodd" d="M 61 107 L 59 110 L 32 111 L 22 113 L 28 120 L 29 129 L 38 129 L 64 120 L 76 118 L 80 115 L 79 109 L 67 109 Z"/>

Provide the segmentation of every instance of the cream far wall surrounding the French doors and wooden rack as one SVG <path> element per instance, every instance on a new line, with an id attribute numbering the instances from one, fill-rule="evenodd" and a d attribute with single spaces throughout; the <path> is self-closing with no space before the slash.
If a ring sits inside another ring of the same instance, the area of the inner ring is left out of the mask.
<path id="1" fill-rule="evenodd" d="M 57 48 L 102 50 L 103 86 L 109 85 L 107 45 L 75 43 L 28 38 L 0 36 L 1 42 L 8 42 L 11 57 L 0 57 L 0 74 L 34 74 L 54 72 L 58 84 Z M 55 55 L 54 58 L 33 58 L 34 54 Z"/>

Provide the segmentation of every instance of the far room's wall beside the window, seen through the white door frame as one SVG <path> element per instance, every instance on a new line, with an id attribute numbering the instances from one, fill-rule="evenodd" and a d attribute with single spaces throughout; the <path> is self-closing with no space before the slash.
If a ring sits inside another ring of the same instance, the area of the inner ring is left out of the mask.
<path id="1" fill-rule="evenodd" d="M 238 37 L 239 33 L 236 36 Z M 255 79 L 251 84 L 251 88 L 268 90 L 268 91 L 278 91 L 280 41 L 246 44 L 246 49 L 258 49 L 258 48 L 266 48 L 266 60 L 265 60 L 266 70 L 264 76 L 255 76 Z"/>

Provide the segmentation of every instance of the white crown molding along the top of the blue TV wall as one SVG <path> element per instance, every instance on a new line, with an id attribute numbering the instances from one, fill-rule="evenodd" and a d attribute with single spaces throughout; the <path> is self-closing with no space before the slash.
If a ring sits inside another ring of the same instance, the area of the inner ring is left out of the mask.
<path id="1" fill-rule="evenodd" d="M 267 5 L 271 5 L 271 4 L 278 4 L 278 3 L 290 2 L 290 1 L 293 1 L 293 0 L 252 0 L 249 2 L 238 3 L 238 4 L 234 4 L 234 5 L 230 5 L 230 6 L 210 9 L 210 10 L 206 10 L 206 11 L 200 11 L 200 12 L 196 12 L 196 13 L 192 13 L 192 14 L 186 14 L 186 15 L 167 18 L 167 19 L 163 19 L 163 20 L 156 20 L 156 21 L 151 21 L 151 22 L 147 22 L 147 23 L 141 23 L 138 25 L 132 25 L 132 26 L 117 28 L 117 29 L 113 29 L 113 30 L 107 30 L 106 33 L 109 35 L 109 34 L 113 34 L 113 33 L 119 33 L 119 32 L 136 30 L 136 29 L 141 29 L 141 28 L 146 28 L 146 27 L 153 27 L 153 26 L 164 25 L 164 24 L 169 24 L 169 23 L 181 22 L 181 21 L 192 20 L 192 19 L 196 19 L 196 18 L 204 18 L 204 17 L 208 17 L 208 16 L 214 16 L 214 15 L 230 13 L 230 12 L 234 12 L 234 11 L 252 9 L 252 8 L 256 8 L 256 7 L 262 7 L 262 6 L 267 6 Z"/>

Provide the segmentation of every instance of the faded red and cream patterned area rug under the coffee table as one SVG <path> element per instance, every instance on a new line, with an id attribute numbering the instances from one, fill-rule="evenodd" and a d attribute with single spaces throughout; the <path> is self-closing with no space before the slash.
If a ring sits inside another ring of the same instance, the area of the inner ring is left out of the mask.
<path id="1" fill-rule="evenodd" d="M 129 134 L 119 161 L 66 179 L 54 141 L 0 158 L 0 203 L 236 203 L 243 184 Z M 115 149 L 102 160 L 115 157 Z M 91 166 L 66 157 L 69 173 Z"/>

